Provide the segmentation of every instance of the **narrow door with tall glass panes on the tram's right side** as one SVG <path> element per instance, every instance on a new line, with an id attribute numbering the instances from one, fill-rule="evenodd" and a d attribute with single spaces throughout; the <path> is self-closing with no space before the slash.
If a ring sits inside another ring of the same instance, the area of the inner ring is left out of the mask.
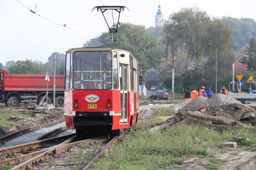
<path id="1" fill-rule="evenodd" d="M 120 90 L 121 90 L 121 118 L 120 123 L 128 122 L 128 92 L 127 92 L 127 72 L 128 72 L 128 65 L 127 64 L 120 64 L 119 65 L 120 71 Z"/>

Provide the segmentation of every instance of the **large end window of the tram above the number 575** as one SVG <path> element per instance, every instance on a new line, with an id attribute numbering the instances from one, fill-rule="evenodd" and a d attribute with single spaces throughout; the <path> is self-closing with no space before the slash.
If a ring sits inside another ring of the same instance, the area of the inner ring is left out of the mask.
<path id="1" fill-rule="evenodd" d="M 111 51 L 75 51 L 72 83 L 74 89 L 111 89 Z"/>

